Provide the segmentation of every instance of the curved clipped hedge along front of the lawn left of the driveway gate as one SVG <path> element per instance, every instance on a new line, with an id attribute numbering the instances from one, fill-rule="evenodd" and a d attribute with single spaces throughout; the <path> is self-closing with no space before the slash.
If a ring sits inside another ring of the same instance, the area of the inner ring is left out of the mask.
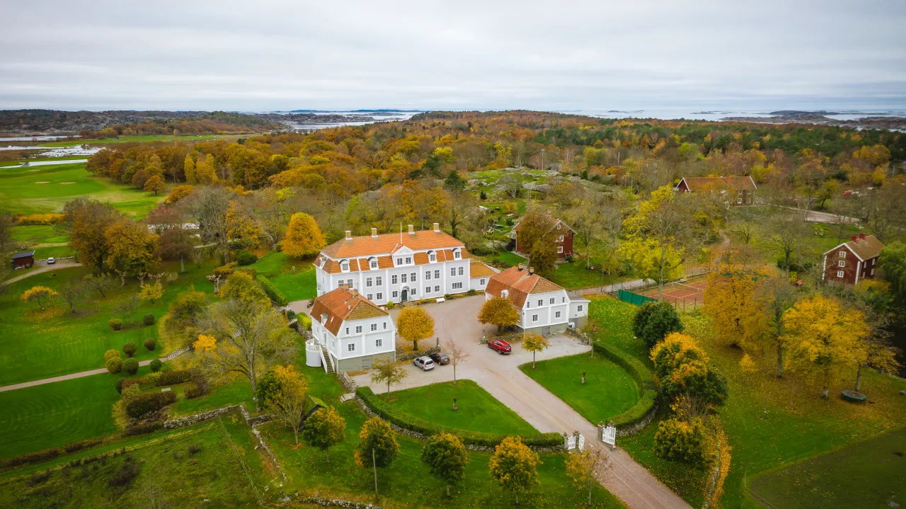
<path id="1" fill-rule="evenodd" d="M 368 387 L 356 389 L 356 394 L 366 405 L 368 405 L 368 408 L 371 408 L 372 412 L 381 416 L 381 418 L 396 426 L 421 433 L 422 435 L 431 436 L 446 432 L 456 435 L 464 444 L 483 447 L 496 447 L 496 445 L 503 441 L 504 438 L 508 437 L 508 435 L 480 433 L 477 431 L 460 429 L 458 427 L 442 426 L 422 418 L 411 416 L 406 412 L 390 406 L 386 401 L 374 394 L 374 392 L 371 391 L 371 388 Z M 532 447 L 558 447 L 563 446 L 564 444 L 564 437 L 559 433 L 539 433 L 537 435 L 518 435 L 517 437 L 522 439 L 523 444 Z"/>

